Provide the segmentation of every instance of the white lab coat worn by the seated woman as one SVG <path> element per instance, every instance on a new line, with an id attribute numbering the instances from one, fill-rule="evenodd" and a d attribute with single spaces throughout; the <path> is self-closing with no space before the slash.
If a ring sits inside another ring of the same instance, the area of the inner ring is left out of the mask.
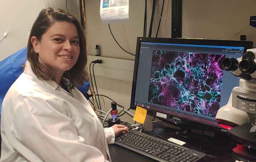
<path id="1" fill-rule="evenodd" d="M 103 162 L 115 133 L 80 91 L 39 80 L 27 61 L 3 100 L 1 137 L 0 162 Z"/>

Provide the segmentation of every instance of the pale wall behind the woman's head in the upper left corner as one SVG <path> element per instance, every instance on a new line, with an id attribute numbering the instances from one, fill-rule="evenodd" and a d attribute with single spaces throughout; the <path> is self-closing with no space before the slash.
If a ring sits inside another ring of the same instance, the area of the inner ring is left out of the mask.
<path id="1" fill-rule="evenodd" d="M 65 0 L 1 0 L 0 1 L 0 39 L 7 32 L 6 38 L 0 42 L 0 61 L 22 49 L 28 42 L 28 30 L 43 8 L 61 8 L 66 10 Z M 67 1 L 68 10 L 80 21 L 79 1 Z"/>

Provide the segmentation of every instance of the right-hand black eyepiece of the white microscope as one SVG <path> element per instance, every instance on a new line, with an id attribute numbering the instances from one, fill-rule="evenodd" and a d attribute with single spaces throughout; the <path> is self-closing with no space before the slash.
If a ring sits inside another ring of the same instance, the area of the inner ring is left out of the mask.
<path id="1" fill-rule="evenodd" d="M 239 69 L 243 73 L 252 74 L 256 69 L 256 63 L 253 60 L 246 58 L 239 63 Z"/>

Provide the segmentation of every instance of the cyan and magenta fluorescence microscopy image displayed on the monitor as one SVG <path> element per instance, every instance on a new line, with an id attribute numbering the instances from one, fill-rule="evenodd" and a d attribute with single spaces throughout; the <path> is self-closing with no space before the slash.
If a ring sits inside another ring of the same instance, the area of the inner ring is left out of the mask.
<path id="1" fill-rule="evenodd" d="M 225 55 L 154 50 L 148 102 L 215 117 Z"/>

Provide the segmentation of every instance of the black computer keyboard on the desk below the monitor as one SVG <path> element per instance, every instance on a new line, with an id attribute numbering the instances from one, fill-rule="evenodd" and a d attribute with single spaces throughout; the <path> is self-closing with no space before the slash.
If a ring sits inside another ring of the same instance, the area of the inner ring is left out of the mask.
<path id="1" fill-rule="evenodd" d="M 116 137 L 115 144 L 161 162 L 195 162 L 206 155 L 134 130 Z"/>

